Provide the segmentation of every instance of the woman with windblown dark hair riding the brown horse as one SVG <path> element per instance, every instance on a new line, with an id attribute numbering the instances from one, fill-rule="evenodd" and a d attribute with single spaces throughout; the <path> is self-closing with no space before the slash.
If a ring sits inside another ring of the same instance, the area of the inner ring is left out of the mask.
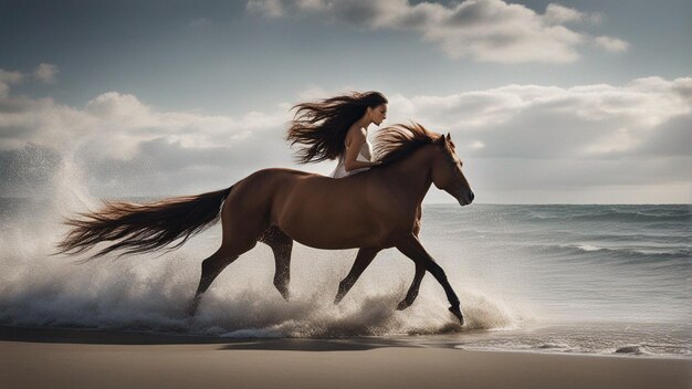
<path id="1" fill-rule="evenodd" d="M 338 159 L 331 175 L 334 178 L 368 170 L 379 165 L 373 161 L 368 126 L 379 126 L 387 118 L 387 104 L 379 92 L 354 92 L 297 104 L 286 138 L 291 146 L 303 146 L 296 153 L 301 164 Z"/>

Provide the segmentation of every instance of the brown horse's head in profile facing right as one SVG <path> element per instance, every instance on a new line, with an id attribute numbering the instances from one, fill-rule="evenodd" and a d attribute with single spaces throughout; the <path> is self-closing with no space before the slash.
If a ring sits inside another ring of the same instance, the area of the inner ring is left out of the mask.
<path id="1" fill-rule="evenodd" d="M 473 201 L 473 191 L 461 171 L 462 162 L 454 151 L 454 143 L 449 134 L 436 141 L 438 153 L 432 161 L 432 182 L 438 189 L 452 195 L 461 206 Z"/>

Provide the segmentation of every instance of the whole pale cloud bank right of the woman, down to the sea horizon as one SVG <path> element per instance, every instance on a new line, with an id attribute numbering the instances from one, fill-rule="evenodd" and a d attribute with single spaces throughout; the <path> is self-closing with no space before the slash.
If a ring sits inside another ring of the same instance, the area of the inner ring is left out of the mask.
<path id="1" fill-rule="evenodd" d="M 392 120 L 451 132 L 481 202 L 692 200 L 692 77 L 389 101 Z"/>

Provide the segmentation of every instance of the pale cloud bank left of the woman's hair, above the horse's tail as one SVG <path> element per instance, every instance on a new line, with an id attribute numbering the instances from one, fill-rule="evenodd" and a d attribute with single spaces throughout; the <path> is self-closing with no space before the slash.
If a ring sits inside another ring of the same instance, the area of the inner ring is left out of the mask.
<path id="1" fill-rule="evenodd" d="M 45 195 L 65 164 L 97 196 L 222 187 L 260 167 L 291 164 L 289 119 L 283 105 L 230 117 L 160 112 L 117 92 L 84 107 L 9 94 L 0 97 L 0 196 Z"/>

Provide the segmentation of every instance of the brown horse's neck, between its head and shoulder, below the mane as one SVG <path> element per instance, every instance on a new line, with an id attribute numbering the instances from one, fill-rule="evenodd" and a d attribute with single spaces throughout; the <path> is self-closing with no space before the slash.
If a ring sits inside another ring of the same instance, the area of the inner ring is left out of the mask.
<path id="1" fill-rule="evenodd" d="M 397 183 L 397 191 L 405 191 L 416 206 L 420 204 L 432 183 L 432 148 L 423 146 L 407 158 L 394 162 L 385 170 L 389 179 Z"/>

